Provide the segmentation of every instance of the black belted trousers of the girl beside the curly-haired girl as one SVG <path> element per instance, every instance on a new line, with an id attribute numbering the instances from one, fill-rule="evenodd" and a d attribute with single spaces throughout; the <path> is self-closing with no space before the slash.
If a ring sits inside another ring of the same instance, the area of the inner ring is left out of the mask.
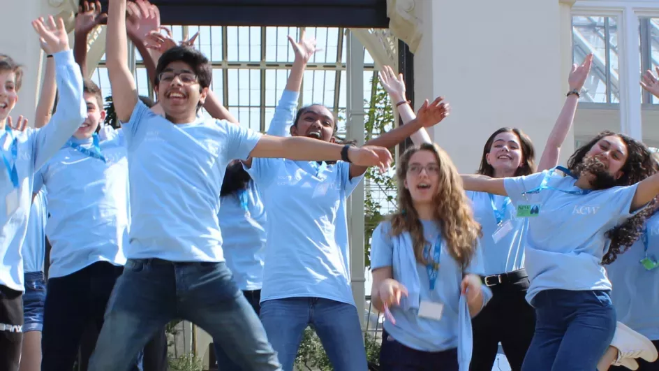
<path id="1" fill-rule="evenodd" d="M 472 319 L 473 357 L 469 370 L 491 371 L 499 342 L 511 370 L 521 370 L 535 332 L 535 311 L 524 298 L 528 284 L 528 277 L 521 277 L 517 282 L 490 286 L 492 299 Z"/>

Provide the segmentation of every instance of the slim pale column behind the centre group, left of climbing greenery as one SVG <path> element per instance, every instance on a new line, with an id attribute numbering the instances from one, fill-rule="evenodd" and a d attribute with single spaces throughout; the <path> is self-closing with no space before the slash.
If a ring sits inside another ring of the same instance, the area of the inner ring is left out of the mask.
<path id="1" fill-rule="evenodd" d="M 348 138 L 364 144 L 364 46 L 353 33 L 348 36 Z M 348 235 L 350 240 L 350 277 L 353 298 L 357 305 L 360 323 L 364 327 L 366 282 L 364 272 L 364 182 L 348 198 Z"/>

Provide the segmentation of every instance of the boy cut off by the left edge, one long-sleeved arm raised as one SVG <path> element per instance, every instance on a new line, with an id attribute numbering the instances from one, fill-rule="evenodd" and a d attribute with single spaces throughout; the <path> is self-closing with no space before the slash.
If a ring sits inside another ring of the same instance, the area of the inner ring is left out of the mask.
<path id="1" fill-rule="evenodd" d="M 35 20 L 33 27 L 55 60 L 59 106 L 44 129 L 19 132 L 8 126 L 18 100 L 22 68 L 10 57 L 0 57 L 0 370 L 18 370 L 23 307 L 21 249 L 27 231 L 35 170 L 59 150 L 84 119 L 82 76 L 68 47 L 64 21 Z"/>

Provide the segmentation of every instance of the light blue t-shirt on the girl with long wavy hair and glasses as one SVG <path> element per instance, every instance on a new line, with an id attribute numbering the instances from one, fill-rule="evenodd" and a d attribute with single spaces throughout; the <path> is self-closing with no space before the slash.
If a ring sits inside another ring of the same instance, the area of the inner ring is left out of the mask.
<path id="1" fill-rule="evenodd" d="M 435 221 L 422 220 L 423 234 L 429 246 L 434 245 L 440 235 L 440 229 Z M 399 259 L 394 259 L 397 249 L 410 249 L 413 253 L 412 246 L 399 245 L 399 239 L 391 235 L 391 222 L 384 221 L 373 231 L 371 240 L 371 270 L 384 267 L 392 267 L 393 279 L 398 282 L 408 282 L 409 277 L 403 277 L 405 274 L 397 264 Z M 460 301 L 460 284 L 462 282 L 463 272 L 461 266 L 453 259 L 447 251 L 446 246 L 442 245 L 440 254 L 438 277 L 435 282 L 435 290 L 430 290 L 430 280 L 426 265 L 416 264 L 417 274 L 420 279 L 419 299 L 422 301 L 434 301 L 443 303 L 444 308 L 442 317 L 439 321 L 419 317 L 418 310 L 414 308 L 403 309 L 403 307 L 393 306 L 390 311 L 396 324 L 385 321 L 384 328 L 397 342 L 417 349 L 419 351 L 445 351 L 458 347 L 459 332 L 459 301 Z M 483 275 L 481 249 L 476 249 L 469 267 L 465 273 Z M 403 283 L 404 284 L 404 283 Z M 487 302 L 491 298 L 491 291 L 483 286 L 484 298 Z M 487 293 L 485 292 L 487 291 Z M 406 299 L 403 299 L 406 300 Z"/>

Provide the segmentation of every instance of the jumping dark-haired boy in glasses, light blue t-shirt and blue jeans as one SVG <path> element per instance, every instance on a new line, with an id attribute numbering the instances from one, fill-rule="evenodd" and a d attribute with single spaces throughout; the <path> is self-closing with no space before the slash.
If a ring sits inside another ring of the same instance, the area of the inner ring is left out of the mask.
<path id="1" fill-rule="evenodd" d="M 288 157 L 385 167 L 382 147 L 344 147 L 310 138 L 261 136 L 197 117 L 212 78 L 191 48 L 168 50 L 156 68 L 165 117 L 138 101 L 127 64 L 126 0 L 110 2 L 106 63 L 117 118 L 124 122 L 131 179 L 130 245 L 89 370 L 121 370 L 175 318 L 198 324 L 246 370 L 281 370 L 258 317 L 226 268 L 217 219 L 232 159 Z"/>

